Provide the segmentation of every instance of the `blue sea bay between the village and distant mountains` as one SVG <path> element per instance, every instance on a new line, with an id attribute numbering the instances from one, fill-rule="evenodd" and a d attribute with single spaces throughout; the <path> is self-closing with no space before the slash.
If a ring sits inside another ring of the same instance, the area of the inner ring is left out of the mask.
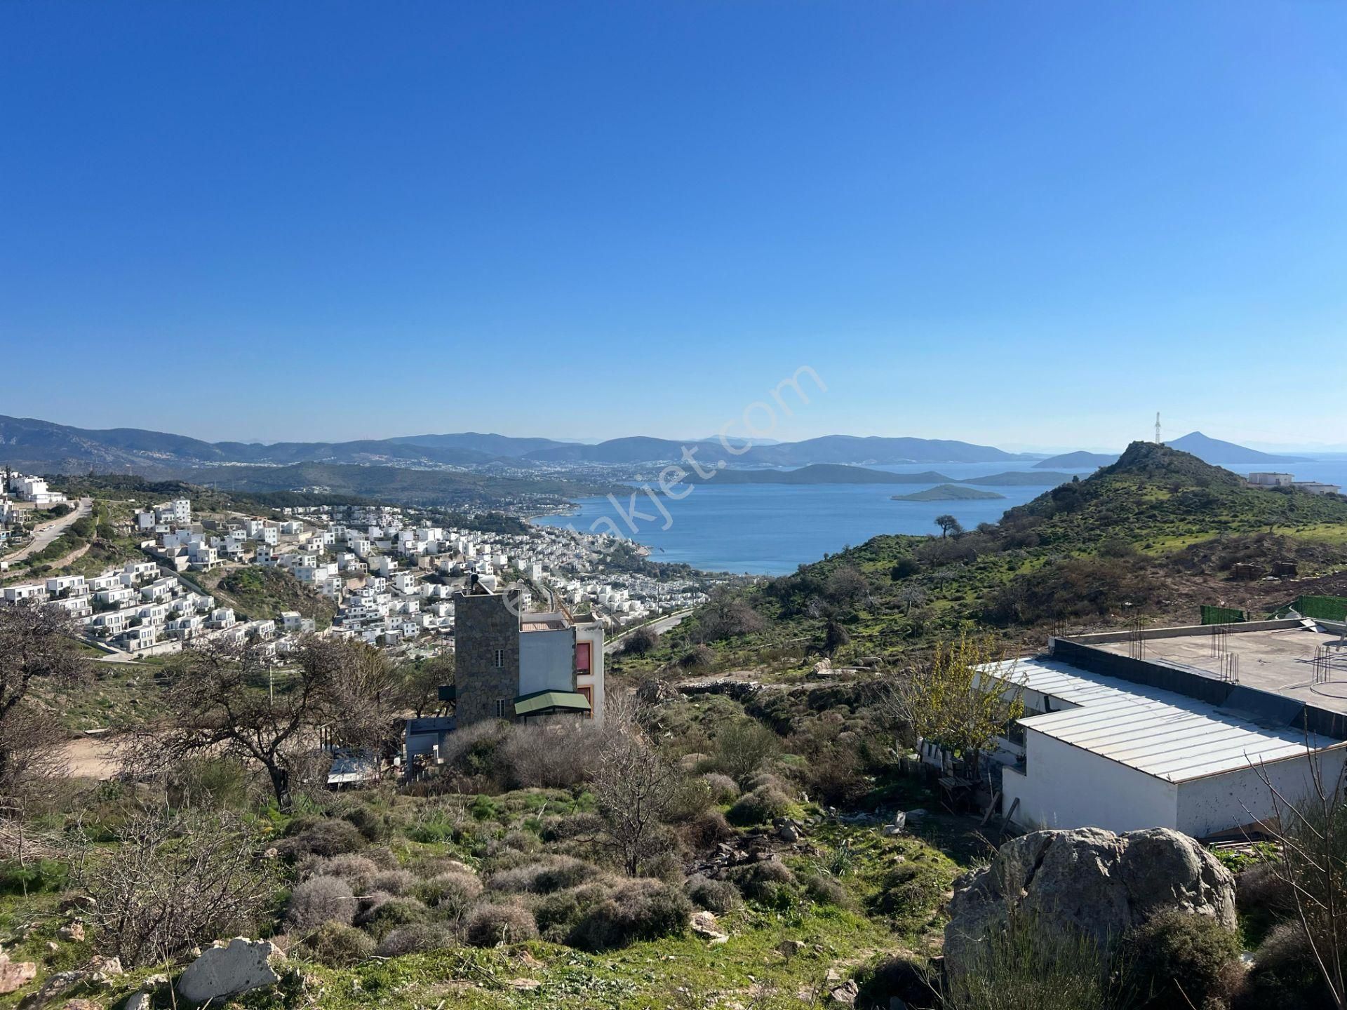
<path id="1" fill-rule="evenodd" d="M 1034 461 L 999 463 L 900 463 L 870 465 L 872 470 L 927 473 L 935 470 L 955 482 L 971 477 L 1033 470 Z M 1220 466 L 1218 463 L 1218 466 Z M 1227 470 L 1247 475 L 1253 470 L 1284 470 L 1297 481 L 1324 481 L 1347 487 L 1347 459 L 1316 459 L 1307 463 L 1227 463 Z M 1082 479 L 1092 470 L 1078 473 Z M 1048 490 L 1048 485 L 989 487 L 1004 498 L 983 501 L 893 501 L 933 483 L 735 483 L 715 481 L 692 487 L 687 497 L 661 497 L 668 514 L 644 494 L 637 494 L 636 514 L 629 498 L 614 505 L 606 497 L 581 498 L 566 516 L 540 516 L 540 525 L 572 527 L 581 532 L 613 532 L 651 551 L 652 562 L 683 562 L 702 571 L 752 575 L 784 575 L 826 553 L 865 543 L 880 533 L 935 533 L 935 517 L 952 514 L 966 529 L 995 523 L 1001 513 Z M 645 518 L 649 517 L 649 518 Z M 633 529 L 634 527 L 634 529 Z"/>

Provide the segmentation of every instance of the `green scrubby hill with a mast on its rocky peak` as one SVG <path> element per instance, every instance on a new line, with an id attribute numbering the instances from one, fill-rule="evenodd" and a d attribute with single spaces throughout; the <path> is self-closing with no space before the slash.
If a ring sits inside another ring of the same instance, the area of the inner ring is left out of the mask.
<path id="1" fill-rule="evenodd" d="M 1297 576 L 1233 578 L 1237 564 L 1274 562 Z M 1187 452 L 1133 443 L 998 523 L 877 536 L 718 599 L 665 634 L 653 661 L 706 641 L 725 665 L 791 668 L 818 652 L 902 663 L 960 630 L 1041 645 L 1055 626 L 1196 621 L 1218 601 L 1266 613 L 1300 593 L 1347 595 L 1347 498 L 1249 487 Z"/>

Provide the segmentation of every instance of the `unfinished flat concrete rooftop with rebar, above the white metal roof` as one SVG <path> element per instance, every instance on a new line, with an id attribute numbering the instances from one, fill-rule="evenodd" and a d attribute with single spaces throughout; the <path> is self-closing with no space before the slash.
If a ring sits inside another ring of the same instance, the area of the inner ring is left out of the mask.
<path id="1" fill-rule="evenodd" d="M 1347 714 L 1347 644 L 1343 642 L 1343 637 L 1325 632 L 1317 625 L 1313 628 L 1301 624 L 1296 624 L 1293 628 L 1258 626 L 1266 624 L 1286 625 L 1290 622 L 1258 622 L 1250 630 L 1241 630 L 1238 624 L 1222 625 L 1228 629 L 1228 634 L 1223 636 L 1226 652 L 1239 657 L 1239 685 Z M 1214 625 L 1202 625 L 1144 632 L 1141 659 L 1220 679 L 1222 659 L 1212 654 L 1212 628 Z M 1068 638 L 1068 641 L 1090 645 L 1117 656 L 1136 654 L 1133 652 L 1136 642 L 1126 637 L 1119 641 L 1099 641 L 1105 637 L 1082 636 Z M 1329 646 L 1328 680 L 1315 684 L 1315 654 L 1321 646 Z"/>

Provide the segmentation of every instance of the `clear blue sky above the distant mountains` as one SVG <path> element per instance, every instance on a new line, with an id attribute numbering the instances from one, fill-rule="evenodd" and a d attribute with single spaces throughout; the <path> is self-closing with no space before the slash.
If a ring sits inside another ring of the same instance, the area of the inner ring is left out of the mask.
<path id="1" fill-rule="evenodd" d="M 0 413 L 1342 442 L 1347 4 L 0 4 Z"/>

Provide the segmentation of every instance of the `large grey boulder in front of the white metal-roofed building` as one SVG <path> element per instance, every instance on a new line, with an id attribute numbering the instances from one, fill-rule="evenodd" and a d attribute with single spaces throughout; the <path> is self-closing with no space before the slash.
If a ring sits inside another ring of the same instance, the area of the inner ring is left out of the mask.
<path id="1" fill-rule="evenodd" d="M 1187 835 L 1146 828 L 1034 831 L 1001 846 L 950 901 L 946 968 L 975 967 L 983 937 L 1024 914 L 1034 929 L 1083 933 L 1103 948 L 1156 912 L 1179 909 L 1235 928 L 1235 878 Z"/>

